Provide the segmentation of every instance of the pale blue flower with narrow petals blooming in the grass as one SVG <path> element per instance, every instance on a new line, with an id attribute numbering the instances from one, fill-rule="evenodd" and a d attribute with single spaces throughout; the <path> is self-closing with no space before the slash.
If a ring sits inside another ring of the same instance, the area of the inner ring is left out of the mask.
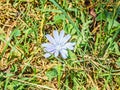
<path id="1" fill-rule="evenodd" d="M 62 58 L 66 59 L 68 57 L 67 49 L 74 49 L 75 43 L 68 42 L 68 40 L 71 38 L 71 35 L 65 35 L 63 30 L 60 32 L 60 34 L 57 30 L 54 30 L 53 37 L 47 34 L 46 38 L 49 40 L 49 43 L 42 44 L 42 47 L 44 47 L 44 51 L 46 52 L 44 55 L 45 58 L 50 57 L 52 54 L 55 57 L 58 57 L 60 54 Z"/>

